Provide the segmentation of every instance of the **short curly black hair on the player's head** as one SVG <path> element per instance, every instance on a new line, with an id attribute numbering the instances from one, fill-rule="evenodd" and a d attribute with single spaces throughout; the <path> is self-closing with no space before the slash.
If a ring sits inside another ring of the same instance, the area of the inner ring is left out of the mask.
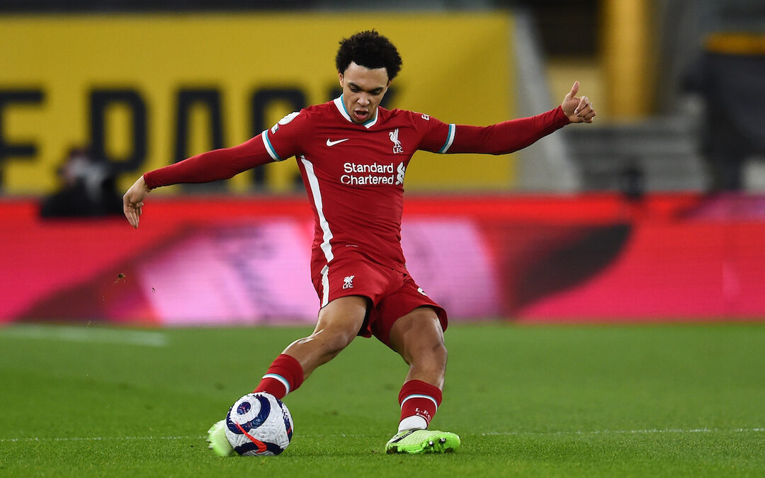
<path id="1" fill-rule="evenodd" d="M 384 67 L 388 72 L 388 80 L 396 78 L 401 70 L 399 50 L 388 38 L 374 30 L 360 31 L 340 41 L 335 57 L 337 71 L 344 72 L 352 61 L 369 69 Z"/>

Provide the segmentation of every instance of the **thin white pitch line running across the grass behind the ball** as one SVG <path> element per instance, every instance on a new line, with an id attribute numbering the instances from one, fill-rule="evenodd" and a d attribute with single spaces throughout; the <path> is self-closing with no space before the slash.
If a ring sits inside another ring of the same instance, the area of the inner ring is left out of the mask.
<path id="1" fill-rule="evenodd" d="M 561 436 L 561 435 L 607 435 L 607 434 L 698 434 L 698 433 L 763 433 L 765 428 L 654 428 L 646 430 L 592 430 L 592 431 L 490 431 L 481 433 L 483 437 L 493 436 Z M 326 437 L 357 437 L 372 438 L 373 435 L 363 434 L 305 434 L 307 438 Z M 3 442 L 30 442 L 30 441 L 150 441 L 150 440 L 204 440 L 207 437 L 23 437 L 23 438 L 0 438 Z"/>

